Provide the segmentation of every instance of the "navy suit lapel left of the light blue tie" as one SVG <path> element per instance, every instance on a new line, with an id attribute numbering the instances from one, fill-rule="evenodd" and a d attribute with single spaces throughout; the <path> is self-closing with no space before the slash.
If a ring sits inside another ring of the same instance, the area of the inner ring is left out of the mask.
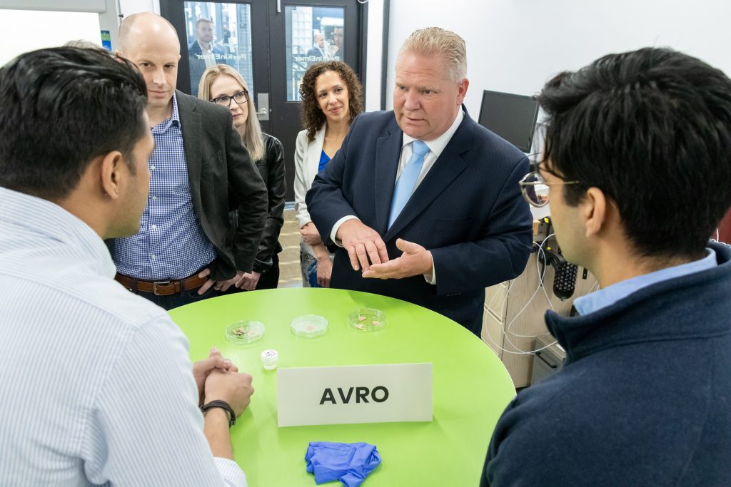
<path id="1" fill-rule="evenodd" d="M 389 134 L 379 137 L 376 140 L 376 161 L 375 181 L 376 186 L 376 230 L 379 234 L 385 234 L 388 226 L 388 212 L 393 199 L 393 188 L 396 183 L 396 172 L 398 170 L 398 159 L 401 157 L 401 142 L 403 132 L 398 125 L 393 123 L 389 126 Z"/>

